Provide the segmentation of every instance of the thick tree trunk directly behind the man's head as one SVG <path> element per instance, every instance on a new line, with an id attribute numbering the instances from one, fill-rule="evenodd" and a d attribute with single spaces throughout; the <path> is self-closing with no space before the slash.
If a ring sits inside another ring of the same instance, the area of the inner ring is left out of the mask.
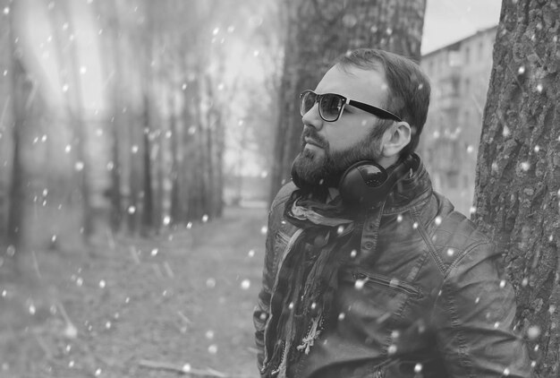
<path id="1" fill-rule="evenodd" d="M 314 89 L 335 57 L 348 49 L 377 47 L 420 60 L 426 0 L 287 0 L 285 6 L 287 37 L 271 199 L 289 178 L 300 150 L 301 90 Z"/>

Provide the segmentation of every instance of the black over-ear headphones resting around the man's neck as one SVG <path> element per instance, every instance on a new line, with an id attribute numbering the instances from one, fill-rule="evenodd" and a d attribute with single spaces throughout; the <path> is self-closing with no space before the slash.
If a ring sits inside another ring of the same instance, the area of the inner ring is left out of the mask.
<path id="1" fill-rule="evenodd" d="M 410 154 L 401 159 L 389 174 L 373 160 L 362 160 L 344 171 L 338 184 L 343 202 L 350 206 L 374 207 L 391 193 L 399 178 L 409 170 L 418 168 L 418 155 Z"/>

